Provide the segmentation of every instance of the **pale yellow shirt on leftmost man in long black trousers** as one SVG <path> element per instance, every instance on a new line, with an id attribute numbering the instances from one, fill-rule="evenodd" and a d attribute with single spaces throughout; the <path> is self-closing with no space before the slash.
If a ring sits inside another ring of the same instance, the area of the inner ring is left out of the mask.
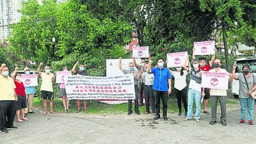
<path id="1" fill-rule="evenodd" d="M 14 88 L 16 88 L 16 86 L 11 77 L 3 77 L 3 75 L 0 75 L 0 101 L 15 100 Z"/>

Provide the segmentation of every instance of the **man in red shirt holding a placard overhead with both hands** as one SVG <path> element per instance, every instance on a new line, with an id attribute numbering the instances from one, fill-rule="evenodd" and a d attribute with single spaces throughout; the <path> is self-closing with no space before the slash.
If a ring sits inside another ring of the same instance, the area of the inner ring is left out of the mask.
<path id="1" fill-rule="evenodd" d="M 216 50 L 214 48 L 214 50 Z M 196 60 L 195 56 L 195 48 L 193 48 L 193 57 L 192 59 Z M 211 61 L 209 63 L 206 63 L 206 59 L 204 57 L 198 58 L 199 65 L 198 67 L 202 71 L 209 71 L 211 69 L 211 66 L 213 65 L 213 62 L 215 60 L 215 54 L 211 56 Z M 203 97 L 203 113 L 209 115 L 209 111 L 207 111 L 207 104 L 208 104 L 208 99 L 210 98 L 209 94 L 209 88 L 205 88 L 205 96 Z"/>

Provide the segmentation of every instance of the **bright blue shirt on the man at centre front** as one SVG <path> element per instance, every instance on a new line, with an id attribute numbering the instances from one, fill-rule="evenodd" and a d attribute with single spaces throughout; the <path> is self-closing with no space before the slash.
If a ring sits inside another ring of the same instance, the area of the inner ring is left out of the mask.
<path id="1" fill-rule="evenodd" d="M 155 67 L 151 69 L 151 73 L 154 74 L 153 89 L 161 92 L 168 91 L 168 79 L 171 79 L 171 73 L 166 67 Z"/>

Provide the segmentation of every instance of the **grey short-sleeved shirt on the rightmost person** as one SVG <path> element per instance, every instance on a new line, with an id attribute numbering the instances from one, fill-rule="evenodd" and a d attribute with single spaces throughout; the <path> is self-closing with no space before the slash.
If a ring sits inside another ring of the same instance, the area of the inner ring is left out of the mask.
<path id="1" fill-rule="evenodd" d="M 246 86 L 243 73 L 238 74 L 238 80 L 239 80 L 239 98 L 249 98 L 250 96 L 247 94 L 248 89 Z M 251 74 L 249 77 L 246 77 L 246 80 L 249 86 L 249 90 L 251 90 L 254 84 L 256 84 L 256 76 Z"/>

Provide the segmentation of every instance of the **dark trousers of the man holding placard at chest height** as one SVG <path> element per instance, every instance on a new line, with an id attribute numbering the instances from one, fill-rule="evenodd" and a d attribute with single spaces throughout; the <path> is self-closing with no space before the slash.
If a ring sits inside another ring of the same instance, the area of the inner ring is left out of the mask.
<path id="1" fill-rule="evenodd" d="M 221 120 L 226 120 L 226 96 L 211 96 L 211 119 L 217 120 L 217 103 L 221 105 Z"/>

